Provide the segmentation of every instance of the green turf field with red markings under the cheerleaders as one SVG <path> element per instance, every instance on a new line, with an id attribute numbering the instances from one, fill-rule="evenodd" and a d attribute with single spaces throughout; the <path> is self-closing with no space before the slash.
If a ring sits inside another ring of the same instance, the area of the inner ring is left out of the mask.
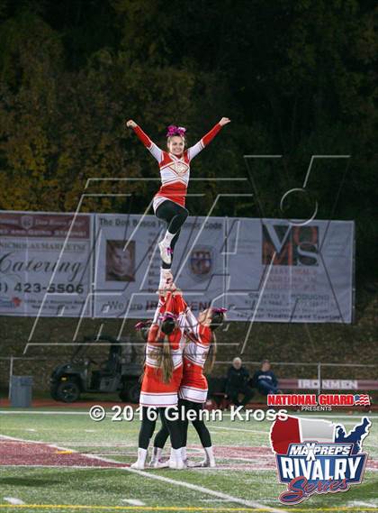
<path id="1" fill-rule="evenodd" d="M 378 417 L 369 417 L 373 425 L 364 450 L 377 461 Z M 340 414 L 328 418 L 338 420 L 348 430 L 359 417 Z M 268 448 L 270 422 L 230 422 L 225 417 L 209 423 L 209 428 L 219 468 L 139 472 L 122 465 L 112 468 L 114 463 L 135 461 L 139 420 L 112 422 L 108 416 L 94 422 L 87 410 L 77 408 L 1 408 L 0 513 L 378 511 L 376 464 L 375 471 L 365 471 L 362 484 L 347 492 L 312 496 L 286 507 L 278 500 L 285 487 L 277 481 L 275 460 Z M 188 448 L 193 460 L 201 456 L 193 428 Z"/>

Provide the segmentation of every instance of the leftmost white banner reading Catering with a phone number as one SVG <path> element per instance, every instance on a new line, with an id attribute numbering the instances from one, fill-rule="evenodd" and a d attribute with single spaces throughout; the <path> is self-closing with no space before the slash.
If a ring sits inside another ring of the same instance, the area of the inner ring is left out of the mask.
<path id="1" fill-rule="evenodd" d="M 91 215 L 0 211 L 0 315 L 90 316 Z"/>

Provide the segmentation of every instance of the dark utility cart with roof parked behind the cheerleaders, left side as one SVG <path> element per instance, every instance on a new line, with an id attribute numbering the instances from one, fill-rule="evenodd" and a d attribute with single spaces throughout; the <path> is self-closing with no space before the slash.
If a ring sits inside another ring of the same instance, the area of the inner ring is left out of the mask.
<path id="1" fill-rule="evenodd" d="M 130 338 L 85 336 L 70 361 L 58 365 L 52 372 L 51 397 L 69 403 L 78 400 L 82 392 L 119 391 L 122 401 L 137 403 L 141 373 L 141 364 L 137 360 L 138 354 Z"/>

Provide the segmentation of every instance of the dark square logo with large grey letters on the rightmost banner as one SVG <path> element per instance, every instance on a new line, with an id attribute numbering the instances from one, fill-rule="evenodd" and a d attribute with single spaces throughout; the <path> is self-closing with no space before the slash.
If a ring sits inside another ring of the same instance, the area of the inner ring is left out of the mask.
<path id="1" fill-rule="evenodd" d="M 319 265 L 319 227 L 269 224 L 263 226 L 264 265 Z"/>

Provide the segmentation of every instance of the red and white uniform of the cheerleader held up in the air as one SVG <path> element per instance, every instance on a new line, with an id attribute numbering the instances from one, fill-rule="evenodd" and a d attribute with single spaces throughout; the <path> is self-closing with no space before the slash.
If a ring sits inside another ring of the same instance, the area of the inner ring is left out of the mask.
<path id="1" fill-rule="evenodd" d="M 186 191 L 190 177 L 190 162 L 211 142 L 215 135 L 220 132 L 220 129 L 221 125 L 217 123 L 211 128 L 209 133 L 202 137 L 201 141 L 185 150 L 181 157 L 175 157 L 172 153 L 160 150 L 155 142 L 152 142 L 138 125 L 133 127 L 134 132 L 155 157 L 160 168 L 162 185 L 154 197 L 154 211 L 156 211 L 157 206 L 167 199 L 174 201 L 180 206 L 185 206 Z"/>

